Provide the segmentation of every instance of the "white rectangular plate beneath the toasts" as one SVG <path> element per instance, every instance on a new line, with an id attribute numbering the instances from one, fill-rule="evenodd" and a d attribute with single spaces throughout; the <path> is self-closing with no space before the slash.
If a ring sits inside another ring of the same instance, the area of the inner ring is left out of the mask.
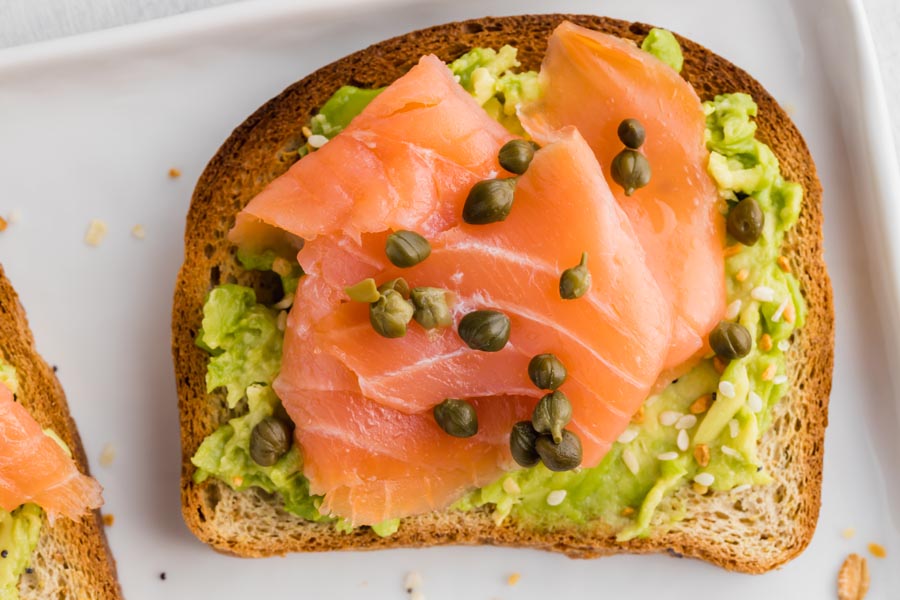
<path id="1" fill-rule="evenodd" d="M 831 598 L 843 558 L 868 554 L 870 541 L 890 554 L 870 560 L 869 597 L 896 597 L 900 420 L 887 376 L 896 361 L 885 356 L 889 343 L 896 355 L 900 339 L 900 243 L 885 234 L 900 223 L 887 203 L 900 185 L 889 128 L 879 127 L 886 111 L 858 4 L 320 4 L 245 3 L 0 52 L 0 214 L 20 209 L 23 217 L 0 235 L 0 260 L 28 308 L 39 349 L 59 365 L 106 487 L 106 511 L 116 519 L 109 539 L 128 598 L 400 599 L 409 570 L 421 571 L 432 600 Z M 206 161 L 262 102 L 368 43 L 461 18 L 550 9 L 643 20 L 692 37 L 756 76 L 791 110 L 812 148 L 826 190 L 838 315 L 824 498 L 812 545 L 763 577 L 665 556 L 573 561 L 497 548 L 257 561 L 215 554 L 181 521 L 169 354 L 183 219 Z M 170 167 L 183 175 L 169 179 Z M 82 241 L 91 218 L 109 224 L 99 248 Z M 143 241 L 129 235 L 138 223 Z M 97 458 L 107 443 L 117 454 L 104 468 Z M 856 528 L 852 540 L 841 537 L 847 527 Z M 522 580 L 508 587 L 513 572 Z"/>

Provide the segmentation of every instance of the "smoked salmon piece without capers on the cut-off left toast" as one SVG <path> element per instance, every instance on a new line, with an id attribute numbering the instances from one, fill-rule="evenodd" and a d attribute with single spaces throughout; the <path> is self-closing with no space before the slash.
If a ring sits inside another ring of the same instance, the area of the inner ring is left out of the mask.
<path id="1" fill-rule="evenodd" d="M 101 491 L 0 384 L 0 508 L 31 502 L 51 523 L 59 515 L 78 519 L 103 504 Z"/>

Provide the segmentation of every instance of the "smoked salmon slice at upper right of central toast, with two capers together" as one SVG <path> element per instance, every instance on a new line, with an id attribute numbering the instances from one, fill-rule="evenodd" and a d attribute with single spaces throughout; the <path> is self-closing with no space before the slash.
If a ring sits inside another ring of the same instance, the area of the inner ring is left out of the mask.
<path id="1" fill-rule="evenodd" d="M 706 170 L 700 99 L 649 52 L 570 22 L 550 38 L 540 83 L 540 98 L 520 108 L 522 124 L 541 143 L 559 128 L 575 126 L 590 144 L 674 309 L 664 367 L 683 370 L 725 312 L 725 221 Z M 631 196 L 609 171 L 623 148 L 616 129 L 626 118 L 644 125 L 640 151 L 653 172 L 649 185 Z"/>

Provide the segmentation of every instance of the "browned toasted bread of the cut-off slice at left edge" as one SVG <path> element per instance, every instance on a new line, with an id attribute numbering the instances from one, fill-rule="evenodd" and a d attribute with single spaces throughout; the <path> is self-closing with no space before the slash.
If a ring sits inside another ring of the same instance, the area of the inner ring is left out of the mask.
<path id="1" fill-rule="evenodd" d="M 28 328 L 25 310 L 0 267 L 0 353 L 16 368 L 17 399 L 44 428 L 52 429 L 69 446 L 82 473 L 87 457 L 62 386 L 40 357 Z M 33 573 L 19 583 L 21 600 L 118 600 L 116 563 L 109 551 L 99 511 L 79 521 L 59 518 L 44 523 L 32 556 Z"/>

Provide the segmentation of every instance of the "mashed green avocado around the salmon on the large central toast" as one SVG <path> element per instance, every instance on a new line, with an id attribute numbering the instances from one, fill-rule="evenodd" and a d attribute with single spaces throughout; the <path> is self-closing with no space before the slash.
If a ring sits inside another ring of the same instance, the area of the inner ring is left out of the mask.
<path id="1" fill-rule="evenodd" d="M 670 32 L 652 30 L 641 47 L 680 71 L 681 48 Z M 517 72 L 519 66 L 511 46 L 476 48 L 450 64 L 488 114 L 523 134 L 516 106 L 536 98 L 540 88 L 537 73 Z M 313 117 L 310 130 L 336 135 L 379 91 L 341 88 Z M 513 519 L 542 528 L 601 520 L 625 541 L 683 518 L 672 501 L 675 491 L 737 493 L 771 482 L 757 446 L 771 424 L 772 408 L 788 390 L 784 354 L 806 314 L 799 283 L 781 257 L 785 232 L 800 212 L 802 188 L 782 178 L 777 158 L 756 139 L 757 106 L 750 96 L 725 94 L 703 107 L 708 170 L 721 197 L 730 205 L 753 196 L 765 214 L 755 245 L 729 239 L 725 251 L 726 318 L 747 328 L 752 351 L 727 365 L 703 359 L 648 398 L 598 466 L 562 473 L 543 465 L 513 471 L 474 490 L 454 509 L 488 507 L 497 523 Z M 300 154 L 312 150 L 307 147 Z M 272 263 L 264 255 L 241 261 L 246 268 L 261 269 Z M 299 267 L 292 272 L 302 273 Z M 210 392 L 224 388 L 229 406 L 240 416 L 201 445 L 193 458 L 195 479 L 215 477 L 234 489 L 256 486 L 278 493 L 290 512 L 323 520 L 317 510 L 321 499 L 309 496 L 300 474 L 296 446 L 273 467 L 260 467 L 249 454 L 255 424 L 283 411 L 270 387 L 281 359 L 283 319 L 278 311 L 257 304 L 249 288 L 229 284 L 210 292 L 197 338 L 211 354 L 207 387 Z M 343 519 L 332 520 L 339 531 L 351 529 Z M 398 526 L 392 520 L 372 529 L 384 536 Z"/>

